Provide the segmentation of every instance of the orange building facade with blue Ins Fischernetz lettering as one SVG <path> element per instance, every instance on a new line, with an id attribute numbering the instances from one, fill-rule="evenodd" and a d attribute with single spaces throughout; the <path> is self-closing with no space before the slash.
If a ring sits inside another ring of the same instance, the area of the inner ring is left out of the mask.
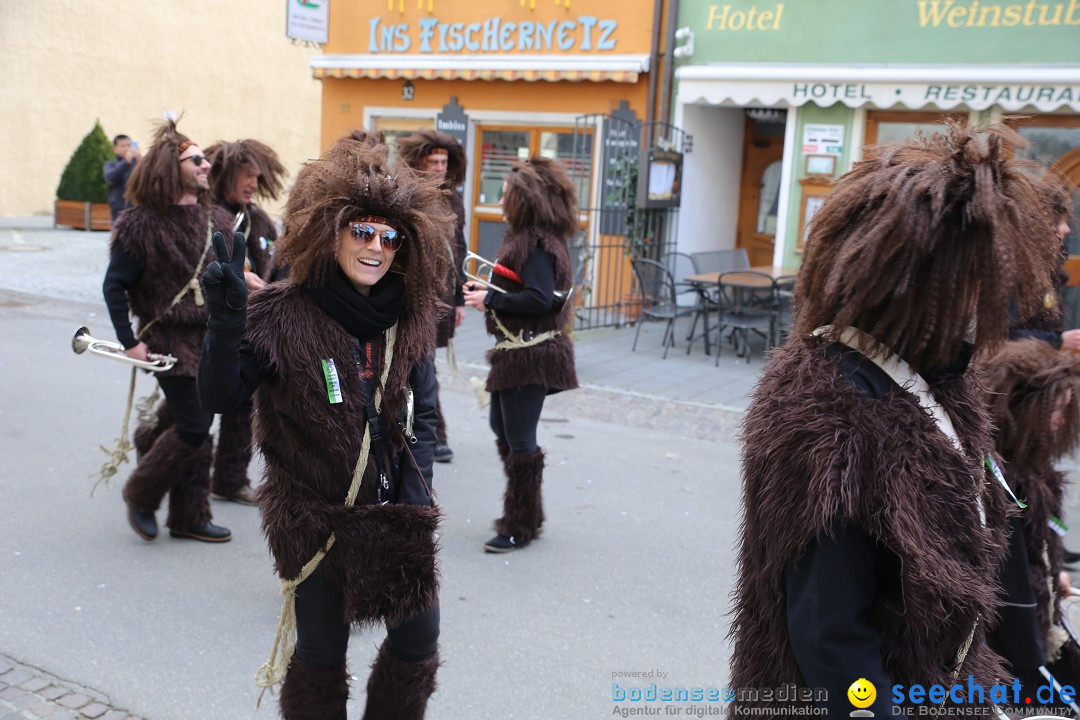
<path id="1" fill-rule="evenodd" d="M 514 161 L 535 153 L 563 161 L 582 206 L 594 202 L 604 162 L 595 135 L 604 125 L 582 118 L 620 108 L 649 117 L 659 94 L 649 78 L 660 42 L 654 18 L 663 8 L 658 0 L 332 3 L 327 44 L 311 59 L 322 81 L 322 147 L 360 126 L 391 141 L 421 127 L 450 132 L 469 159 L 467 237 L 471 249 L 492 257 L 505 228 L 502 181 Z M 589 225 L 583 213 L 586 234 Z M 608 255 L 594 258 L 590 272 L 619 266 L 622 286 L 629 263 L 621 253 Z"/>

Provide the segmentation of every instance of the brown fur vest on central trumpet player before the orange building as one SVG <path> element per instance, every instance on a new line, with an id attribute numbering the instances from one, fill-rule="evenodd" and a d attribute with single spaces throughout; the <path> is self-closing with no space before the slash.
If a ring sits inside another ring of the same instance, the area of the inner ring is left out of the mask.
<path id="1" fill-rule="evenodd" d="M 502 247 L 499 248 L 498 262 L 514 272 L 519 272 L 535 249 L 543 250 L 554 259 L 555 289 L 565 290 L 570 287 L 573 282 L 570 250 L 563 237 L 540 230 L 527 230 L 518 234 L 508 231 Z M 501 275 L 495 275 L 492 282 L 510 291 L 522 289 L 521 285 Z M 573 313 L 572 305 L 572 302 L 568 302 L 561 312 L 540 315 L 499 314 L 499 322 L 515 335 L 521 330 L 531 332 L 561 330 L 562 334 L 531 348 L 489 350 L 487 353 L 487 361 L 491 364 L 491 370 L 487 375 L 489 392 L 525 385 L 543 385 L 550 393 L 554 393 L 578 386 L 578 372 L 573 365 L 573 342 L 566 334 Z M 492 314 L 491 310 L 486 313 L 487 331 L 498 338 L 499 329 Z"/>

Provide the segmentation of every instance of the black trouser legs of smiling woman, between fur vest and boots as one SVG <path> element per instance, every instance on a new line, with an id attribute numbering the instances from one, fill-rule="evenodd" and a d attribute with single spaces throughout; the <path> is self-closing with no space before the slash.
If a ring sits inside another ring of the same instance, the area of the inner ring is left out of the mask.
<path id="1" fill-rule="evenodd" d="M 399 658 L 414 663 L 438 649 L 438 604 L 396 627 L 387 626 L 387 641 Z M 345 622 L 345 596 L 319 575 L 296 588 L 296 657 L 309 667 L 335 668 L 345 663 L 349 649 L 349 624 Z"/>

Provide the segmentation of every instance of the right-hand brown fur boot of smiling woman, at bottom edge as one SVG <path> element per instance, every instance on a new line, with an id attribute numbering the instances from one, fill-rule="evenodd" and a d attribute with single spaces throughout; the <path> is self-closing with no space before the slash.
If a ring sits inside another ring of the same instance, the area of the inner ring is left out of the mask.
<path id="1" fill-rule="evenodd" d="M 390 652 L 383 641 L 367 679 L 364 720 L 422 720 L 428 698 L 435 692 L 438 653 L 406 662 Z"/>

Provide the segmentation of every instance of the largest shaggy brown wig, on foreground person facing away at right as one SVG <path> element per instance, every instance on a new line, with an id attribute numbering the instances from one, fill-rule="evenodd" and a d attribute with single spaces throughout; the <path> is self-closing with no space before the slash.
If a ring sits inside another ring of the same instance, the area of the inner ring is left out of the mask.
<path id="1" fill-rule="evenodd" d="M 1012 130 L 949 123 L 868 147 L 814 216 L 794 332 L 853 325 L 919 372 L 945 367 L 977 317 L 975 345 L 1039 309 L 1059 243 Z"/>

